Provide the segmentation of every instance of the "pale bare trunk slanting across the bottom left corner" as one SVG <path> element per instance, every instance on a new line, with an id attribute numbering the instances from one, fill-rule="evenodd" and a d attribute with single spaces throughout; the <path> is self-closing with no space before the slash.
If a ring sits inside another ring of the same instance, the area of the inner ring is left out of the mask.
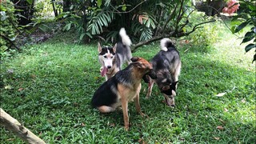
<path id="1" fill-rule="evenodd" d="M 12 118 L 2 108 L 0 108 L 0 124 L 5 126 L 7 130 L 14 132 L 19 138 L 27 143 L 46 143 L 41 138 L 38 138 L 30 130 L 27 130 L 25 126 L 22 126 L 15 118 Z"/>

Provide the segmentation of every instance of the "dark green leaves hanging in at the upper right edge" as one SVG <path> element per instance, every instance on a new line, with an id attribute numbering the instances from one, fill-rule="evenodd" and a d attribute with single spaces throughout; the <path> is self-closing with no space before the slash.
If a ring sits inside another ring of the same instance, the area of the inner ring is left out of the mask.
<path id="1" fill-rule="evenodd" d="M 240 0 L 240 7 L 238 10 L 238 15 L 232 18 L 231 30 L 233 33 L 238 33 L 243 30 L 246 26 L 250 27 L 247 30 L 245 36 L 242 38 L 242 43 L 250 42 L 246 45 L 246 52 L 256 49 L 256 0 Z M 238 5 L 234 3 L 233 6 Z M 256 52 L 256 51 L 255 51 Z M 256 60 L 256 54 L 254 54 L 253 62 Z"/>

